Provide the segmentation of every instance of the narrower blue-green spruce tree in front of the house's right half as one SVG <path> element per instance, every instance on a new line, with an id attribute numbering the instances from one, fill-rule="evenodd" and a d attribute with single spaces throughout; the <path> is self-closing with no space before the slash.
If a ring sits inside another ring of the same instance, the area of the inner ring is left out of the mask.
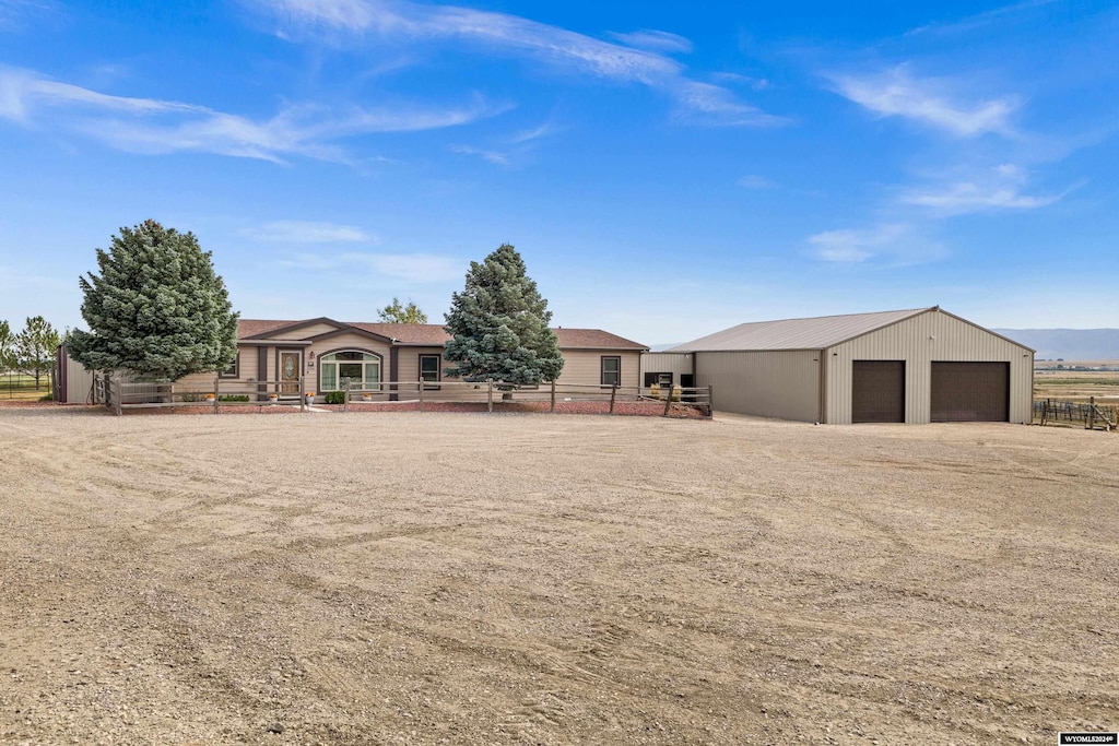
<path id="1" fill-rule="evenodd" d="M 525 262 L 513 246 L 501 245 L 485 262 L 470 263 L 467 285 L 451 295 L 445 315 L 444 359 L 458 363 L 450 375 L 463 380 L 493 380 L 534 385 L 555 380 L 563 357 L 536 283 L 525 274 Z"/>

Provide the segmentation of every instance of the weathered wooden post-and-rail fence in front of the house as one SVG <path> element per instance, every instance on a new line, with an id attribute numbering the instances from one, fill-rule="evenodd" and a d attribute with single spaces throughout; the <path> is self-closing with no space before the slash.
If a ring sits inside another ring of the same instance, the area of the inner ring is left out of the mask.
<path id="1" fill-rule="evenodd" d="M 340 405 L 349 412 L 363 403 L 394 403 L 414 406 L 423 412 L 429 404 L 486 404 L 487 412 L 508 409 L 510 404 L 534 403 L 538 408 L 555 413 L 571 403 L 599 403 L 608 414 L 618 414 L 623 405 L 643 403 L 646 407 L 662 405 L 665 416 L 698 410 L 712 416 L 712 388 L 679 387 L 661 390 L 657 386 L 593 386 L 547 383 L 539 386 L 516 386 L 501 381 L 382 381 L 366 384 L 342 379 L 337 391 L 313 396 L 304 390 L 304 381 L 231 381 L 214 378 L 207 385 L 156 384 L 129 381 L 121 376 L 94 375 L 94 403 L 116 414 L 131 409 L 209 407 L 220 414 L 225 407 Z"/>

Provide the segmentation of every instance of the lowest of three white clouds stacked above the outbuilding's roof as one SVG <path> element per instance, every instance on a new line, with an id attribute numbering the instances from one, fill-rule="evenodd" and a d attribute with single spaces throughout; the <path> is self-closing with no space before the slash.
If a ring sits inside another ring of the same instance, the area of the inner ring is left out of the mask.
<path id="1" fill-rule="evenodd" d="M 884 223 L 869 228 L 825 230 L 808 237 L 814 255 L 833 264 L 871 261 L 912 265 L 943 256 L 935 242 L 904 223 Z"/>

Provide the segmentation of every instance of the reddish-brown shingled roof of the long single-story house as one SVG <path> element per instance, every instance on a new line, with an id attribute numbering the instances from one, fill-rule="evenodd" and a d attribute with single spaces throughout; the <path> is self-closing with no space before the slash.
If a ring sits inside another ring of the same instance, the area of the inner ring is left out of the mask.
<path id="1" fill-rule="evenodd" d="M 330 323 L 338 328 L 337 332 L 327 332 L 322 337 L 333 336 L 347 330 L 357 330 L 367 334 L 383 337 L 401 347 L 442 347 L 451 336 L 442 324 L 408 324 L 408 323 L 370 323 L 357 321 L 342 323 L 327 318 L 308 319 L 304 321 L 270 321 L 265 319 L 241 319 L 237 322 L 238 340 L 261 340 L 271 336 L 297 330 L 311 324 Z M 560 342 L 560 349 L 567 350 L 647 350 L 648 346 L 633 340 L 611 334 L 601 329 L 553 329 Z M 318 339 L 316 336 L 313 339 Z"/>

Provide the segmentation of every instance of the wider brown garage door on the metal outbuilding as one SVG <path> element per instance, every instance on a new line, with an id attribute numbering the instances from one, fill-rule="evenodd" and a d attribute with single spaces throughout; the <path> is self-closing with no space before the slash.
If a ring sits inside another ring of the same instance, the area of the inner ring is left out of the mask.
<path id="1" fill-rule="evenodd" d="M 1009 362 L 933 362 L 932 422 L 1008 422 Z"/>

